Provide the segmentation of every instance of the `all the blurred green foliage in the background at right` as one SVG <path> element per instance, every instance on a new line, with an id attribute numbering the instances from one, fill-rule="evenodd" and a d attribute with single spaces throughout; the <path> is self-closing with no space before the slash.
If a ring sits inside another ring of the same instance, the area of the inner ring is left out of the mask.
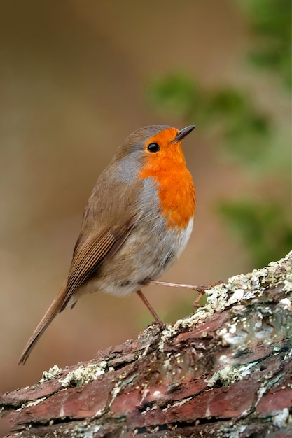
<path id="1" fill-rule="evenodd" d="M 291 94 L 291 2 L 290 0 L 238 0 L 253 35 L 253 49 L 247 54 L 255 74 L 277 76 L 279 93 Z M 275 174 L 289 178 L 291 150 L 289 134 L 274 126 L 271 115 L 257 107 L 249 90 L 220 87 L 204 89 L 186 73 L 173 72 L 155 78 L 148 90 L 148 102 L 159 111 L 178 115 L 204 129 L 207 137 L 220 143 L 221 153 L 235 160 L 246 172 L 263 179 Z M 287 129 L 288 130 L 288 129 Z M 230 232 L 244 241 L 251 267 L 263 267 L 284 257 L 292 249 L 290 205 L 281 205 L 267 193 L 256 197 L 256 185 L 244 199 L 221 199 L 217 211 Z"/>

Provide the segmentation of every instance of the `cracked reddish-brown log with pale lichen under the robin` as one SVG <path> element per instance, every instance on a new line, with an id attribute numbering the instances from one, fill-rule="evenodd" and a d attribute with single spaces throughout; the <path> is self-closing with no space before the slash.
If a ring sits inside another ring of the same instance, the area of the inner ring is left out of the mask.
<path id="1" fill-rule="evenodd" d="M 292 436 L 292 252 L 172 325 L 0 397 L 7 437 Z"/>

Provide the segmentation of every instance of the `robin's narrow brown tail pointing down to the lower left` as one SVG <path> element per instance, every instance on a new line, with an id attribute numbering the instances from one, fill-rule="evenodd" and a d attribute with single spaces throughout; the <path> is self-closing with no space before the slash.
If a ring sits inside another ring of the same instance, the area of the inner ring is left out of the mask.
<path id="1" fill-rule="evenodd" d="M 45 315 L 41 319 L 39 325 L 34 330 L 34 333 L 27 341 L 27 345 L 22 351 L 20 360 L 18 361 L 18 365 L 20 364 L 25 365 L 25 362 L 29 358 L 29 355 L 32 352 L 32 348 L 34 348 L 36 342 L 39 340 L 39 338 L 46 330 L 48 325 L 50 325 L 50 323 L 53 321 L 57 313 L 60 313 L 60 311 L 64 309 L 63 304 L 64 304 L 64 298 L 66 297 L 66 290 L 67 290 L 67 281 L 64 282 L 57 297 L 55 297 L 53 303 L 50 305 Z"/>

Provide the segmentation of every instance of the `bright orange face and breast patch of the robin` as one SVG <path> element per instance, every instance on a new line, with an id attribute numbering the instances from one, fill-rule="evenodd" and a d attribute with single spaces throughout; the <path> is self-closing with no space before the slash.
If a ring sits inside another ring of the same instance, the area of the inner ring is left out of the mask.
<path id="1" fill-rule="evenodd" d="M 161 213 L 169 228 L 186 228 L 195 214 L 195 187 L 186 167 L 181 143 L 161 143 L 161 134 L 153 136 L 151 142 L 155 141 L 160 142 L 162 147 L 159 153 L 146 155 L 138 177 L 153 178 L 157 184 Z"/>

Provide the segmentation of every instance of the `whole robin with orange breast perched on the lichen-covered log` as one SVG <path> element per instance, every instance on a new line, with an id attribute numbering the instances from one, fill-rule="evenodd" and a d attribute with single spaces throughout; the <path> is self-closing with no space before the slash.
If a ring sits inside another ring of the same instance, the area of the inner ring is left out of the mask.
<path id="1" fill-rule="evenodd" d="M 18 364 L 25 364 L 55 316 L 72 309 L 85 293 L 137 292 L 155 321 L 162 323 L 141 288 L 151 284 L 195 288 L 157 280 L 179 258 L 193 229 L 195 186 L 182 141 L 194 128 L 142 127 L 118 147 L 88 199 L 68 278 Z"/>

